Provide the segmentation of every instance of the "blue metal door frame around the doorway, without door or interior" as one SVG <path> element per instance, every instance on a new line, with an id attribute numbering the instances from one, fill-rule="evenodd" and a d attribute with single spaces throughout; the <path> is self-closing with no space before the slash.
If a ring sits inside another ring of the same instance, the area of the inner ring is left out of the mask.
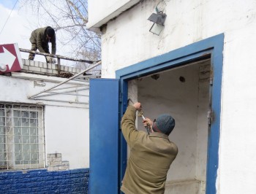
<path id="1" fill-rule="evenodd" d="M 192 61 L 197 61 L 211 55 L 211 69 L 214 73 L 213 87 L 211 93 L 211 109 L 214 119 L 208 134 L 208 160 L 206 172 L 206 193 L 216 193 L 217 169 L 219 167 L 219 128 L 221 111 L 221 88 L 222 88 L 222 63 L 223 63 L 224 34 L 203 39 L 200 42 L 189 44 L 173 50 L 170 53 L 136 63 L 124 69 L 116 71 L 116 78 L 119 79 L 121 91 L 121 105 L 119 107 L 120 117 L 127 108 L 127 82 L 131 79 L 144 77 L 148 74 L 172 69 L 176 66 L 183 66 Z M 119 134 L 119 184 L 124 176 L 127 166 L 127 144 L 122 134 Z"/>

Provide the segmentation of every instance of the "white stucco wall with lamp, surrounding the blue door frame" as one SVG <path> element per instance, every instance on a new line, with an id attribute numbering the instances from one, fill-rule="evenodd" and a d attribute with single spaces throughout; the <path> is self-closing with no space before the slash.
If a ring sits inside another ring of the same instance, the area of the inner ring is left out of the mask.
<path id="1" fill-rule="evenodd" d="M 148 31 L 152 23 L 147 19 L 158 2 L 140 1 L 102 28 L 102 77 L 113 78 L 117 69 L 224 33 L 217 193 L 255 193 L 256 2 L 162 1 L 167 18 L 156 36 Z M 95 7 L 98 3 L 89 0 Z"/>

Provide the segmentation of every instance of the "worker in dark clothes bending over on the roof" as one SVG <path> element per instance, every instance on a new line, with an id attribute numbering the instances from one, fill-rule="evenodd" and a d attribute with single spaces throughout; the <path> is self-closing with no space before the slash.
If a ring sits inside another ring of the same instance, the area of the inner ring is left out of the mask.
<path id="1" fill-rule="evenodd" d="M 30 36 L 31 42 L 31 50 L 37 51 L 41 53 L 49 53 L 49 45 L 51 43 L 51 54 L 56 54 L 56 34 L 53 28 L 47 26 L 45 28 L 37 28 L 32 31 Z M 34 60 L 34 53 L 29 53 L 29 60 Z M 55 58 L 51 58 L 50 56 L 46 56 L 46 61 L 48 63 L 56 63 Z"/>

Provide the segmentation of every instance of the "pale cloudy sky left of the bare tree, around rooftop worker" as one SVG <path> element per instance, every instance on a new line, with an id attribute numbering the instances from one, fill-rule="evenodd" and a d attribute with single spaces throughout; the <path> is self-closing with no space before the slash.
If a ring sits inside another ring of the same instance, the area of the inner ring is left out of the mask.
<path id="1" fill-rule="evenodd" d="M 19 3 L 15 5 L 16 1 L 17 0 L 0 0 L 0 18 L 1 18 L 0 19 L 0 44 L 18 43 L 19 48 L 30 50 L 31 43 L 29 42 L 29 38 L 30 38 L 31 32 L 34 31 L 34 29 L 36 28 L 45 27 L 45 26 L 39 26 L 39 18 L 37 17 L 37 15 L 33 14 L 33 12 L 31 12 L 31 10 L 28 9 L 28 7 L 20 8 Z M 12 10 L 14 5 L 15 5 L 15 8 Z M 58 38 L 60 36 L 58 37 L 58 34 L 56 35 L 57 35 L 57 41 L 56 41 L 57 53 L 56 54 L 64 55 L 68 57 L 68 55 L 66 54 L 68 51 L 68 48 L 61 47 L 61 45 L 58 42 Z M 21 52 L 20 55 L 22 58 L 28 58 L 29 53 Z M 36 57 L 34 58 L 34 61 L 45 62 L 45 58 L 42 55 L 36 55 Z M 66 63 L 66 62 L 67 61 L 63 61 L 63 63 Z"/>

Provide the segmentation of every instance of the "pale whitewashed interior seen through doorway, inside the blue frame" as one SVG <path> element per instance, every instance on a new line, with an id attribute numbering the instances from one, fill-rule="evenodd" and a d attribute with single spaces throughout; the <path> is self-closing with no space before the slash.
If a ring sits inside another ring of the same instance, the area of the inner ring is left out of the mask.
<path id="1" fill-rule="evenodd" d="M 159 71 L 128 82 L 128 98 L 140 101 L 145 117 L 167 113 L 176 120 L 169 139 L 178 146 L 165 193 L 206 193 L 211 59 Z M 138 129 L 143 129 L 138 118 Z M 128 150 L 129 155 L 129 150 Z"/>

